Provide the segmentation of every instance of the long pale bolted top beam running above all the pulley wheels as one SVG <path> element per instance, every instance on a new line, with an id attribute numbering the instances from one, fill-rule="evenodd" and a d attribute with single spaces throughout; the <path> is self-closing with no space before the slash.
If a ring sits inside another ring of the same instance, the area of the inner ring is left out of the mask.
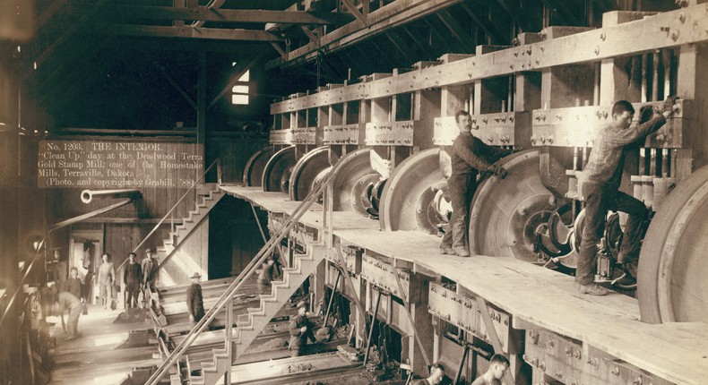
<path id="1" fill-rule="evenodd" d="M 682 23 L 679 14 L 690 15 L 690 20 Z M 540 71 L 559 65 L 599 62 L 616 56 L 635 56 L 657 49 L 705 43 L 708 42 L 708 37 L 703 32 L 699 33 L 704 30 L 708 30 L 708 13 L 705 12 L 705 5 L 696 5 L 659 13 L 640 21 L 543 40 L 524 47 L 510 47 L 432 68 L 402 73 L 398 75 L 396 81 L 388 79 L 368 81 L 344 86 L 336 91 L 325 90 L 307 97 L 273 103 L 271 113 L 281 114 L 332 105 L 335 103 L 333 100 L 336 100 L 336 103 L 343 103 L 361 99 L 362 95 L 367 95 L 367 98 L 384 98 L 415 90 L 467 84 L 518 72 Z M 634 44 L 627 45 L 627 41 L 633 41 Z M 528 61 L 525 63 L 522 61 L 520 64 L 521 50 L 528 52 L 526 54 Z"/>

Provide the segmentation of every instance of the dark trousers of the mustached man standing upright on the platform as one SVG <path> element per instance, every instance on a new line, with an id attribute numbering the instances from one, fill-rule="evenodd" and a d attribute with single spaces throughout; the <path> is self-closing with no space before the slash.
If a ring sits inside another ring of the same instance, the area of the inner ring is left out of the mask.
<path id="1" fill-rule="evenodd" d="M 447 180 L 447 193 L 453 203 L 453 218 L 445 226 L 441 248 L 467 250 L 464 235 L 467 230 L 467 217 L 470 215 L 470 202 L 476 189 L 477 175 L 475 174 L 451 175 Z"/>

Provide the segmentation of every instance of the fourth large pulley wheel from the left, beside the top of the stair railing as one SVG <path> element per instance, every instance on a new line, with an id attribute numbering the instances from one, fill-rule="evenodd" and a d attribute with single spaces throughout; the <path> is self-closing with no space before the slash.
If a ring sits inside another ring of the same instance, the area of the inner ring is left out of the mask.
<path id="1" fill-rule="evenodd" d="M 381 175 L 371 167 L 370 151 L 352 151 L 341 157 L 332 169 L 332 210 L 352 211 L 362 216 L 371 215 L 371 202 L 367 201 L 370 194 L 367 192 L 381 180 Z"/>

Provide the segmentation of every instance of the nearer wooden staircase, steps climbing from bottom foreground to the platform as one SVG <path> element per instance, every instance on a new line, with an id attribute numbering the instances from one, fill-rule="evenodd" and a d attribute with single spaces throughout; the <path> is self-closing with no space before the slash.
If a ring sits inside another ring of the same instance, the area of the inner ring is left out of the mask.
<path id="1" fill-rule="evenodd" d="M 305 279 L 315 271 L 317 265 L 324 259 L 324 254 L 324 244 L 307 244 L 306 253 L 296 255 L 293 266 L 283 269 L 282 280 L 272 282 L 271 294 L 260 295 L 260 306 L 249 308 L 246 314 L 238 316 L 237 329 L 234 330 L 231 343 L 227 341 L 225 349 L 213 349 L 212 363 L 202 364 L 200 374 L 189 373 L 189 383 L 215 385 L 223 381 L 224 375 L 231 369 L 232 362 L 246 352 L 246 348 L 265 325 L 281 310 Z M 229 348 L 233 349 L 232 355 L 229 355 Z"/>

